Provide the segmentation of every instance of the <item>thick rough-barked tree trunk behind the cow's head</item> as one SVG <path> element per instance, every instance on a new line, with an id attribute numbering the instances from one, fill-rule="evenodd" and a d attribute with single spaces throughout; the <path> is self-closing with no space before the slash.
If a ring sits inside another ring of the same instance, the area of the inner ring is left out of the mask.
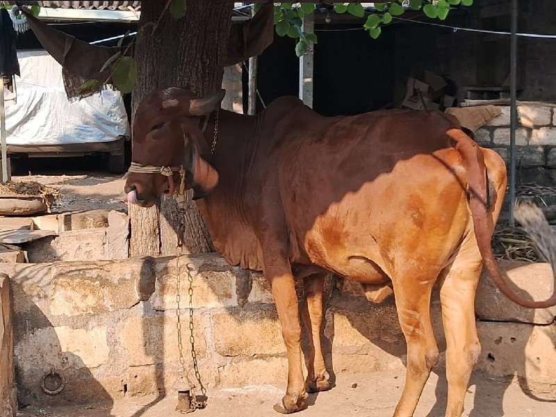
<path id="1" fill-rule="evenodd" d="M 141 3 L 133 116 L 140 101 L 156 88 L 188 85 L 197 95 L 205 96 L 222 85 L 234 1 L 186 0 L 186 16 L 181 19 L 174 19 L 170 10 L 163 12 L 166 3 Z M 178 216 L 172 197 L 161 197 L 159 204 L 149 209 L 130 204 L 129 215 L 131 256 L 176 254 Z M 190 197 L 185 222 L 186 245 L 182 252 L 211 252 L 211 238 Z"/>

